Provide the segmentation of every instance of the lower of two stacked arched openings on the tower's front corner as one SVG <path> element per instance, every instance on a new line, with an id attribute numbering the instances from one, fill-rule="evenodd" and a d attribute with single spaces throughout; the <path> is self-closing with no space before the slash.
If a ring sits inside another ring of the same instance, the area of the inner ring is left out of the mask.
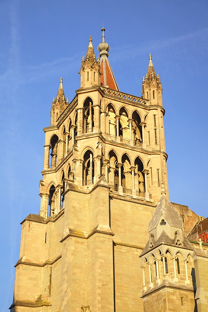
<path id="1" fill-rule="evenodd" d="M 93 154 L 90 150 L 84 153 L 83 185 L 92 185 L 94 178 Z"/>

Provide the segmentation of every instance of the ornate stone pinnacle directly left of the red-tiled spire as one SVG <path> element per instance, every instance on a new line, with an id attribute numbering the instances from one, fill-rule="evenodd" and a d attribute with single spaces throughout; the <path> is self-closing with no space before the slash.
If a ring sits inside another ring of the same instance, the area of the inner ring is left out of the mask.
<path id="1" fill-rule="evenodd" d="M 92 46 L 92 36 L 89 38 L 87 53 L 82 57 L 82 65 L 79 71 L 81 76 L 81 88 L 90 88 L 94 85 L 100 85 L 100 61 L 99 57 L 95 57 L 95 52 Z"/>

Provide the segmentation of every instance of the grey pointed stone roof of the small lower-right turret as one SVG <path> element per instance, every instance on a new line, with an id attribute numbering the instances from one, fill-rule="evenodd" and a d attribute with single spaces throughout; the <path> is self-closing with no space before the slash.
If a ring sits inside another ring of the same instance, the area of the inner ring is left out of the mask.
<path id="1" fill-rule="evenodd" d="M 182 217 L 178 214 L 172 203 L 163 194 L 149 222 L 149 232 L 157 227 L 161 217 L 164 217 L 171 227 L 183 228 Z"/>

